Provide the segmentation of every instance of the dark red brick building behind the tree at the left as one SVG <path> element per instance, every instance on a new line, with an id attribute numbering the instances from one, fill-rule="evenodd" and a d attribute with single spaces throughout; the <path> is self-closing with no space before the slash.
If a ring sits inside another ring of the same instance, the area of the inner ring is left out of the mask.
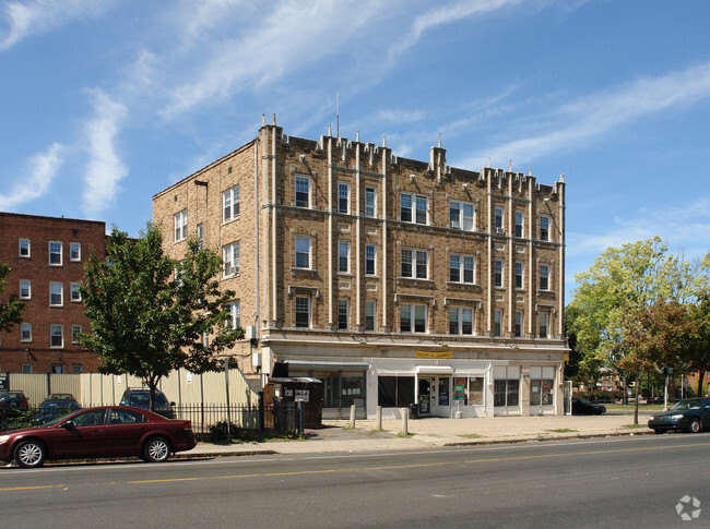
<path id="1" fill-rule="evenodd" d="M 0 263 L 12 272 L 2 292 L 25 304 L 23 322 L 0 333 L 0 371 L 81 373 L 98 369 L 98 357 L 76 344 L 88 329 L 79 282 L 83 263 L 105 253 L 106 225 L 95 220 L 0 212 Z"/>

